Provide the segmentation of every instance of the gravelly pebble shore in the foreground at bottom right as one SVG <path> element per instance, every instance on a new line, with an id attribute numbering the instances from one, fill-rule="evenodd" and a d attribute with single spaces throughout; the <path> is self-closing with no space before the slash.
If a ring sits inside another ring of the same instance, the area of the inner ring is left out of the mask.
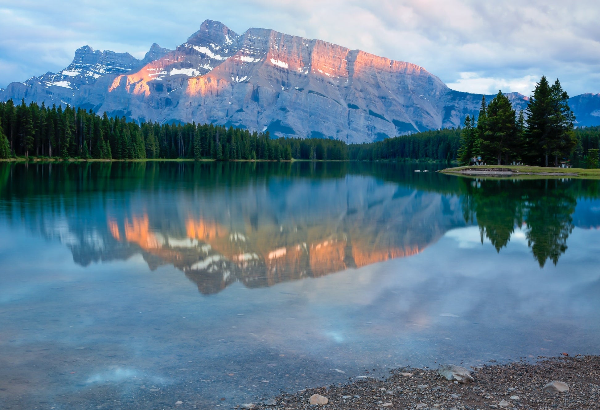
<path id="1" fill-rule="evenodd" d="M 262 397 L 260 401 L 235 406 L 253 409 L 420 409 L 475 410 L 595 409 L 600 397 L 600 356 L 539 357 L 541 361 L 518 361 L 469 368 L 475 381 L 446 381 L 438 369 L 400 368 L 385 380 L 364 376 L 348 384 L 330 385 Z M 404 375 L 403 375 L 404 373 Z M 410 375 L 407 375 L 410 374 Z M 566 382 L 569 391 L 542 390 L 551 381 Z M 309 397 L 320 394 L 325 405 L 310 405 Z M 269 400 L 269 401 L 268 401 Z M 276 404 L 272 403 L 275 400 Z"/>

